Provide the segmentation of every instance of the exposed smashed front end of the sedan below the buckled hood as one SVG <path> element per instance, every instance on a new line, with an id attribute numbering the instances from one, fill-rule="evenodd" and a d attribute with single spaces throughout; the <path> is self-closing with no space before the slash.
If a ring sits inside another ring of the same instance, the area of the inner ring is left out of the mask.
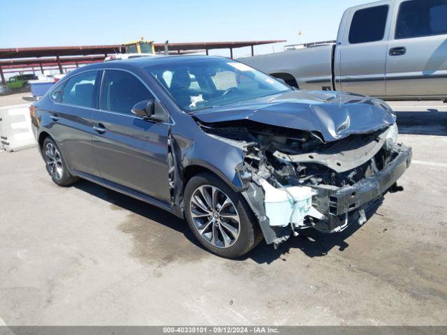
<path id="1" fill-rule="evenodd" d="M 411 163 L 411 149 L 397 143 L 396 124 L 332 142 L 318 132 L 251 120 L 199 125 L 244 151 L 236 167 L 242 195 L 267 243 L 307 228 L 333 233 L 362 225 L 385 193 L 402 191 L 396 181 Z"/>

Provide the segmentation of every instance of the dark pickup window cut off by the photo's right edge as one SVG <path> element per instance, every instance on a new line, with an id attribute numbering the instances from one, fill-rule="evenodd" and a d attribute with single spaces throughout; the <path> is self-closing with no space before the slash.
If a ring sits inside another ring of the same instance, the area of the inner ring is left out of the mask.
<path id="1" fill-rule="evenodd" d="M 400 4 L 397 40 L 447 34 L 447 0 L 412 0 Z"/>

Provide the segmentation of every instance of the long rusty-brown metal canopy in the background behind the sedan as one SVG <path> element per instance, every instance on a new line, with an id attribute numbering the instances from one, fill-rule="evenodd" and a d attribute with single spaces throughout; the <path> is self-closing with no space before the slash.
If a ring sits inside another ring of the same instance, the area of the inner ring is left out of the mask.
<path id="1" fill-rule="evenodd" d="M 184 54 L 200 51 L 205 51 L 206 54 L 208 54 L 209 50 L 230 49 L 230 57 L 233 58 L 233 49 L 235 48 L 251 47 L 251 55 L 254 55 L 255 45 L 283 42 L 286 42 L 286 40 L 168 43 L 167 46 L 169 54 Z M 155 43 L 154 48 L 156 52 L 165 52 L 166 43 Z M 17 47 L 0 49 L 1 83 L 5 84 L 3 69 L 8 69 L 8 72 L 12 72 L 12 70 L 18 68 L 40 68 L 43 71 L 43 68 L 47 66 L 59 66 L 59 71 L 62 73 L 64 65 L 78 66 L 79 64 L 103 61 L 108 54 L 115 53 L 126 53 L 124 44 L 78 45 L 68 47 Z M 42 57 L 47 57 L 47 59 L 43 59 Z M 48 59 L 48 57 L 52 57 L 52 59 Z"/>

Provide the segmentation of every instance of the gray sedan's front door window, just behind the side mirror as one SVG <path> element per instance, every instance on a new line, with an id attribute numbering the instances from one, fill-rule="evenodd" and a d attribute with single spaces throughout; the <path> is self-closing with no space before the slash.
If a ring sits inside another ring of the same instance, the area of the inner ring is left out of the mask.
<path id="1" fill-rule="evenodd" d="M 119 70 L 106 70 L 101 86 L 101 110 L 132 114 L 136 103 L 153 99 L 140 80 L 130 73 Z"/>

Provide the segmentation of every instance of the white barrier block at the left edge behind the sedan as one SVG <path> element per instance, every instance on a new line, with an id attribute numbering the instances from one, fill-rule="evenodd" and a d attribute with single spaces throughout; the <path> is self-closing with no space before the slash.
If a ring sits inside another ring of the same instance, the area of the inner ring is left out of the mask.
<path id="1" fill-rule="evenodd" d="M 0 107 L 0 149 L 18 151 L 36 146 L 29 105 Z"/>

